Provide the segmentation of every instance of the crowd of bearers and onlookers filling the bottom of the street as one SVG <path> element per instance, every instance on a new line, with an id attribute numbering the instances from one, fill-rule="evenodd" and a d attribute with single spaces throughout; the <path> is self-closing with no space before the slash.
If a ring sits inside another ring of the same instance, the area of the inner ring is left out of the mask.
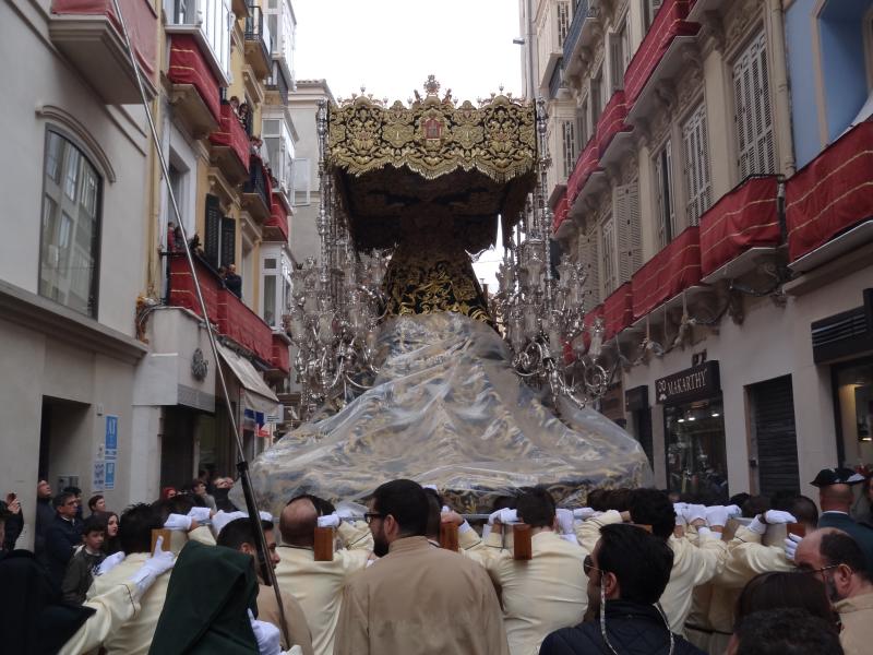
<path id="1" fill-rule="evenodd" d="M 3 652 L 854 655 L 873 640 L 873 526 L 852 517 L 873 495 L 850 469 L 818 474 L 817 503 L 641 488 L 563 509 L 526 489 L 481 529 L 406 479 L 367 508 L 302 495 L 258 517 L 232 484 L 167 487 L 120 516 L 97 495 L 83 517 L 81 490 L 40 480 L 33 552 L 14 549 L 8 495 Z"/>

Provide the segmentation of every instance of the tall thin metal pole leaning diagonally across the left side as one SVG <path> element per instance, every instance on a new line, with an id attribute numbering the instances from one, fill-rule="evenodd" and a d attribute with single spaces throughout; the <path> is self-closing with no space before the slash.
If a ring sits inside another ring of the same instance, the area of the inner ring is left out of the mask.
<path id="1" fill-rule="evenodd" d="M 198 278 L 196 269 L 194 267 L 194 258 L 191 254 L 191 247 L 188 243 L 188 234 L 186 234 L 184 224 L 182 223 L 181 214 L 179 212 L 179 205 L 176 201 L 176 194 L 172 191 L 172 186 L 170 184 L 170 175 L 169 175 L 169 167 L 167 165 L 167 158 L 164 155 L 164 150 L 160 145 L 160 139 L 157 134 L 157 128 L 155 127 L 155 120 L 152 116 L 152 108 L 148 106 L 148 100 L 145 97 L 145 87 L 143 86 L 143 79 L 142 73 L 140 71 L 140 64 L 136 61 L 136 53 L 133 50 L 133 46 L 130 40 L 130 33 L 128 32 L 128 23 L 124 20 L 124 14 L 121 11 L 121 5 L 119 0 L 112 0 L 112 7 L 115 8 L 116 15 L 118 15 L 119 24 L 121 25 L 121 32 L 124 36 L 124 46 L 128 49 L 128 57 L 130 58 L 130 63 L 133 67 L 133 73 L 136 78 L 136 86 L 140 90 L 140 100 L 142 102 L 143 109 L 145 110 L 145 118 L 148 121 L 148 129 L 152 132 L 152 140 L 155 143 L 155 152 L 157 153 L 158 162 L 160 163 L 160 171 L 164 176 L 164 182 L 167 188 L 167 195 L 170 201 L 170 205 L 172 206 L 172 213 L 176 217 L 176 225 L 179 227 L 179 231 L 182 236 L 182 243 L 184 245 L 184 255 L 186 260 L 188 261 L 188 267 L 191 272 L 191 278 L 194 281 L 194 293 L 198 298 L 198 303 L 200 305 L 200 310 L 203 312 L 203 322 L 206 326 L 206 335 L 210 340 L 210 349 L 212 350 L 213 358 L 215 359 L 215 374 L 218 378 L 218 384 L 222 390 L 222 397 L 224 398 L 225 409 L 227 412 L 228 424 L 230 425 L 231 431 L 234 433 L 234 440 L 237 444 L 237 471 L 239 472 L 240 481 L 242 483 L 242 492 L 246 498 L 246 508 L 249 512 L 249 517 L 254 522 L 255 527 L 255 535 L 258 539 L 258 560 L 261 567 L 261 574 L 262 579 L 265 583 L 270 584 L 276 593 L 276 603 L 279 609 L 279 628 L 282 629 L 283 635 L 285 636 L 285 642 L 290 645 L 291 641 L 289 639 L 288 626 L 285 622 L 285 609 L 282 605 L 282 595 L 279 594 L 279 588 L 276 584 L 276 573 L 273 570 L 273 564 L 271 562 L 270 550 L 266 546 L 266 537 L 264 536 L 264 531 L 261 527 L 261 516 L 258 511 L 258 503 L 254 499 L 254 489 L 252 488 L 251 477 L 249 475 L 249 463 L 246 461 L 246 452 L 242 448 L 242 439 L 239 434 L 239 429 L 237 427 L 237 421 L 234 416 L 234 406 L 230 403 L 230 394 L 227 391 L 227 381 L 225 380 L 224 371 L 222 370 L 220 365 L 218 361 L 218 344 L 217 340 L 215 338 L 215 331 L 213 330 L 213 325 L 210 322 L 210 314 L 206 310 L 206 302 L 203 299 L 203 290 L 200 286 L 200 279 Z"/>

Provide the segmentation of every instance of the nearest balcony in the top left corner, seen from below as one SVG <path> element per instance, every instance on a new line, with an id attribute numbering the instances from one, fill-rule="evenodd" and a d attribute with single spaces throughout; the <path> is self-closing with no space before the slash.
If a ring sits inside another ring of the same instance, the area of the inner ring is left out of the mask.
<path id="1" fill-rule="evenodd" d="M 147 0 L 129 0 L 122 5 L 145 95 L 152 99 L 157 94 L 157 15 Z M 112 0 L 52 0 L 48 32 L 51 43 L 97 90 L 105 103 L 141 102 L 136 74 Z"/>

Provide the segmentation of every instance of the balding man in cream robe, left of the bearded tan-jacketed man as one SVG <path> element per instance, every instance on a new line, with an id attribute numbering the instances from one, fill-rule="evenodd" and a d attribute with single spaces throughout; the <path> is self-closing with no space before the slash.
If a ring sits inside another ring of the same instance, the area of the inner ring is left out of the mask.
<path id="1" fill-rule="evenodd" d="M 339 618 L 343 588 L 348 579 L 367 567 L 372 556 L 373 536 L 367 524 L 343 522 L 337 535 L 344 544 L 330 562 L 316 562 L 315 527 L 320 515 L 333 508 L 326 501 L 301 496 L 291 500 L 279 520 L 282 558 L 276 565 L 279 588 L 294 596 L 303 608 L 315 655 L 331 655 Z"/>

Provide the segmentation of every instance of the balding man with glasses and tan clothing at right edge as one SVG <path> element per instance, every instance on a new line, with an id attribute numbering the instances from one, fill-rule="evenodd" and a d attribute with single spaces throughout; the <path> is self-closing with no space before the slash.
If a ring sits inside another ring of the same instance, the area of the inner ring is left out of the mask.
<path id="1" fill-rule="evenodd" d="M 806 536 L 794 553 L 798 570 L 820 575 L 842 623 L 839 641 L 847 655 L 870 653 L 873 644 L 873 584 L 864 552 L 845 532 L 823 527 Z"/>

